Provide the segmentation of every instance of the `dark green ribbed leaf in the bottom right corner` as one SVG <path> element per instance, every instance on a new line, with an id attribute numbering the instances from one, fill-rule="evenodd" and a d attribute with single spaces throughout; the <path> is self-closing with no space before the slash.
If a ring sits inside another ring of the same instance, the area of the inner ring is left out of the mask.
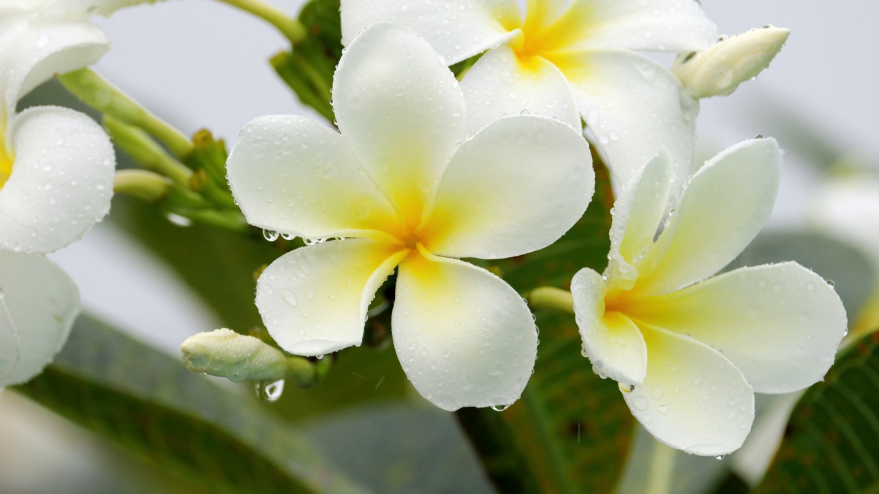
<path id="1" fill-rule="evenodd" d="M 756 492 L 879 491 L 879 333 L 852 345 L 791 415 Z"/>

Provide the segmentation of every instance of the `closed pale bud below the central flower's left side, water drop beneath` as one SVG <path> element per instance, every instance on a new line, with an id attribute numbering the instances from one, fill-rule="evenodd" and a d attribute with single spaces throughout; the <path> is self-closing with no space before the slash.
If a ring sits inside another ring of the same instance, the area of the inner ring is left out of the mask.
<path id="1" fill-rule="evenodd" d="M 187 338 L 180 345 L 183 363 L 193 372 L 229 381 L 279 381 L 287 376 L 287 358 L 262 340 L 222 329 Z"/>

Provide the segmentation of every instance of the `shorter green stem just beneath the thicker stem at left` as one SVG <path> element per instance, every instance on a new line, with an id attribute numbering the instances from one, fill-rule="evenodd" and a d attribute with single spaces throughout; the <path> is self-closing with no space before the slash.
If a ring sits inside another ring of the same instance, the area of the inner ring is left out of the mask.
<path id="1" fill-rule="evenodd" d="M 104 116 L 104 127 L 107 134 L 113 137 L 113 143 L 142 167 L 171 178 L 179 185 L 189 186 L 193 171 L 165 152 L 162 146 L 140 128 L 130 126 L 111 115 Z"/>

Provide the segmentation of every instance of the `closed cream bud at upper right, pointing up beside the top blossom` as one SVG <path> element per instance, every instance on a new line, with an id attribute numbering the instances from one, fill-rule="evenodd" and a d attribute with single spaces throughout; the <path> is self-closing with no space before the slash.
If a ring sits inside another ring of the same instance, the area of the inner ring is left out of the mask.
<path id="1" fill-rule="evenodd" d="M 696 98 L 727 95 L 766 69 L 789 35 L 789 29 L 771 25 L 752 29 L 705 51 L 680 55 L 672 72 Z"/>

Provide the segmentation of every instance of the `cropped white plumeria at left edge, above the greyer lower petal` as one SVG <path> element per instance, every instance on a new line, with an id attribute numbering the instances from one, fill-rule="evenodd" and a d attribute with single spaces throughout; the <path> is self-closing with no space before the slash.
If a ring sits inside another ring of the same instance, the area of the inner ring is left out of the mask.
<path id="1" fill-rule="evenodd" d="M 57 250 L 110 208 L 115 156 L 104 130 L 54 106 L 17 114 L 18 98 L 80 69 L 108 40 L 87 16 L 134 2 L 13 1 L 0 6 L 0 249 Z"/>

